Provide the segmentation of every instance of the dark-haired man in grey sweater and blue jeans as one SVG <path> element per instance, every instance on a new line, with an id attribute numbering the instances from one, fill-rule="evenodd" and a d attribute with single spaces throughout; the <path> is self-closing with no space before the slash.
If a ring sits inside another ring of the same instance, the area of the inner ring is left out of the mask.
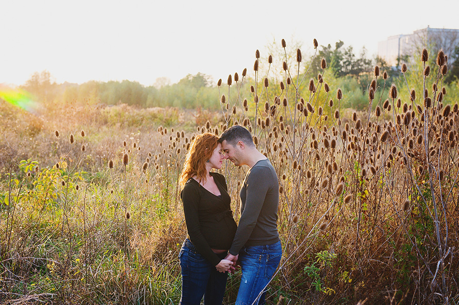
<path id="1" fill-rule="evenodd" d="M 264 304 L 264 288 L 282 257 L 276 224 L 279 182 L 271 162 L 257 150 L 246 128 L 235 125 L 225 130 L 218 141 L 226 159 L 250 168 L 240 191 L 241 218 L 226 257 L 241 264 L 236 305 Z"/>

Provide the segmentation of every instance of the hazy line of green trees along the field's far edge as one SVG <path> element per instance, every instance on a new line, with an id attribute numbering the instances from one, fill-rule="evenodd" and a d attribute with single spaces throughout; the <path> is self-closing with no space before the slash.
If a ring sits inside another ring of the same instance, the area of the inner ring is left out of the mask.
<path id="1" fill-rule="evenodd" d="M 432 51 L 432 58 L 435 54 Z M 373 75 L 374 66 L 381 71 L 387 71 L 391 79 L 399 79 L 402 84 L 402 73 L 399 67 L 390 67 L 381 58 L 368 59 L 366 50 L 362 49 L 357 56 L 352 46 L 344 47 L 344 42 L 338 41 L 334 47 L 330 44 L 321 46 L 314 57 L 304 61 L 302 69 L 311 78 L 316 78 L 321 71 L 320 63 L 325 59 L 332 75 L 327 75 L 330 84 L 341 87 L 348 93 L 345 106 L 359 109 L 368 102 L 367 89 Z M 399 63 L 417 65 L 417 58 L 413 56 L 399 59 Z M 447 82 L 457 82 L 459 78 L 459 47 L 450 55 L 449 73 Z M 65 102 L 67 104 L 128 104 L 139 107 L 179 107 L 205 108 L 218 110 L 220 96 L 216 90 L 216 83 L 211 76 L 197 73 L 188 74 L 176 84 L 162 84 L 162 86 L 144 86 L 137 81 L 88 81 L 84 84 L 56 84 L 48 71 L 36 72 L 25 82 L 22 89 L 34 94 L 39 101 Z M 271 81 L 271 80 L 270 80 Z M 275 84 L 276 81 L 271 81 Z M 457 87 L 457 86 L 456 86 Z M 249 88 L 242 87 L 241 97 L 249 97 Z M 235 93 L 237 94 L 237 93 Z"/>

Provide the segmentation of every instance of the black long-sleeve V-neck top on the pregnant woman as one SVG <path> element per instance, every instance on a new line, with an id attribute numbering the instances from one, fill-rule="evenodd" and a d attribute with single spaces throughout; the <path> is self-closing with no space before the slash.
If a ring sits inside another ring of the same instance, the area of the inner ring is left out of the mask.
<path id="1" fill-rule="evenodd" d="M 212 265 L 220 258 L 212 249 L 229 249 L 237 225 L 231 211 L 231 198 L 225 177 L 210 173 L 220 190 L 221 198 L 214 195 L 193 178 L 188 179 L 181 192 L 188 236 L 197 251 Z"/>

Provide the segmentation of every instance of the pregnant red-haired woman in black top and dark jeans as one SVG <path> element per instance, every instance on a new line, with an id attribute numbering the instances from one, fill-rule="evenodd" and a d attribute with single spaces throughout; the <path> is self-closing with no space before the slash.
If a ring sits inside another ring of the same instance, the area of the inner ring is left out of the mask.
<path id="1" fill-rule="evenodd" d="M 224 160 L 218 137 L 202 133 L 191 143 L 180 183 L 188 238 L 180 250 L 182 268 L 181 305 L 220 305 L 227 271 L 233 262 L 225 260 L 237 225 L 231 198 L 220 169 Z"/>

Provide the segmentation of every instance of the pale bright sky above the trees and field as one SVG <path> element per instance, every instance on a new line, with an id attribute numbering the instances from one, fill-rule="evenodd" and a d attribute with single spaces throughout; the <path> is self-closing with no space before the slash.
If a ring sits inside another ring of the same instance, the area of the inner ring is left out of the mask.
<path id="1" fill-rule="evenodd" d="M 430 27 L 458 29 L 459 1 L 0 0 L 0 84 L 47 70 L 58 84 L 124 79 L 144 86 L 198 72 L 251 71 L 257 49 L 301 43 L 303 58 L 339 40 L 368 57 L 379 41 Z M 442 8 L 443 7 L 443 8 Z M 432 9 L 438 8 L 438 11 Z"/>

